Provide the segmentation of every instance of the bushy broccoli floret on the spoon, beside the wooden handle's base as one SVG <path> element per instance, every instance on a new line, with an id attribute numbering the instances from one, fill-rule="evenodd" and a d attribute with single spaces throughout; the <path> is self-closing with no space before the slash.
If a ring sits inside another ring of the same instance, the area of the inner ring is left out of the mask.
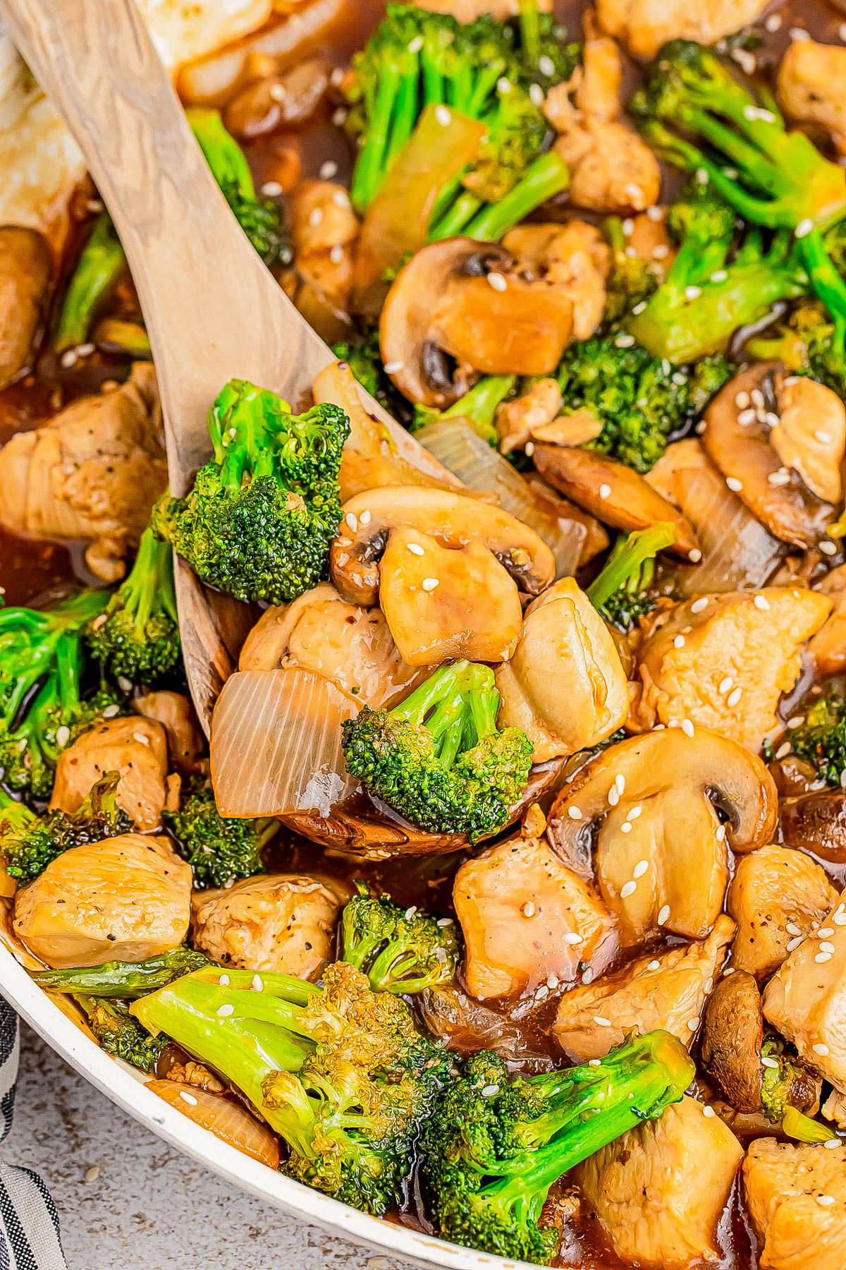
<path id="1" fill-rule="evenodd" d="M 164 494 L 152 528 L 202 582 L 280 605 L 323 577 L 341 522 L 350 422 L 336 405 L 292 415 L 269 389 L 230 380 L 208 417 L 214 457 L 186 498 Z"/>

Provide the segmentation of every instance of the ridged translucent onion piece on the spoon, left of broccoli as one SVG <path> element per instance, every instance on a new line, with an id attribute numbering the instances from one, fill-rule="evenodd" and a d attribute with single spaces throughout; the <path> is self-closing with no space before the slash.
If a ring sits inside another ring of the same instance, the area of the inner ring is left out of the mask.
<path id="1" fill-rule="evenodd" d="M 341 723 L 358 709 L 331 679 L 299 667 L 231 674 L 212 716 L 221 815 L 329 817 L 359 789 L 341 752 Z"/>

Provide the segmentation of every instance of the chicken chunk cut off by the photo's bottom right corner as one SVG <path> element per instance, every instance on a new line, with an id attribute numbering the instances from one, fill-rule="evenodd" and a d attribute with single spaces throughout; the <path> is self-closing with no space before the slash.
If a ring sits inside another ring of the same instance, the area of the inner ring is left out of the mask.
<path id="1" fill-rule="evenodd" d="M 846 1146 L 757 1138 L 746 1154 L 743 1182 L 761 1270 L 842 1270 Z"/>

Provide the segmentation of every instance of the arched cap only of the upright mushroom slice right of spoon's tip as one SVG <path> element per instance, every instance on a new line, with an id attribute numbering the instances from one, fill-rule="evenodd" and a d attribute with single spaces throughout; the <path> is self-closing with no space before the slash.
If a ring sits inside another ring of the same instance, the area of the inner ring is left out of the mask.
<path id="1" fill-rule="evenodd" d="M 572 867 L 590 871 L 592 827 L 611 809 L 609 794 L 620 780 L 629 800 L 667 789 L 698 789 L 727 817 L 733 851 L 753 851 L 772 841 L 779 799 L 761 759 L 705 728 L 696 728 L 693 737 L 681 728 L 663 728 L 610 745 L 556 799 L 549 841 Z"/>

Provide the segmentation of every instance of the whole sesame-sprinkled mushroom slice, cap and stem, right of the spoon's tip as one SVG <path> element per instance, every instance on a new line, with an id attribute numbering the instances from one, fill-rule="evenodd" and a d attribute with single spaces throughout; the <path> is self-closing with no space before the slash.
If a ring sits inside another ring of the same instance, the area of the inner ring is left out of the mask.
<path id="1" fill-rule="evenodd" d="M 661 928 L 701 937 L 723 902 L 726 839 L 752 851 L 770 841 L 776 817 L 775 784 L 758 758 L 704 728 L 693 737 L 672 728 L 591 759 L 556 800 L 549 841 L 582 874 L 596 845 L 602 898 L 625 942 Z"/>

